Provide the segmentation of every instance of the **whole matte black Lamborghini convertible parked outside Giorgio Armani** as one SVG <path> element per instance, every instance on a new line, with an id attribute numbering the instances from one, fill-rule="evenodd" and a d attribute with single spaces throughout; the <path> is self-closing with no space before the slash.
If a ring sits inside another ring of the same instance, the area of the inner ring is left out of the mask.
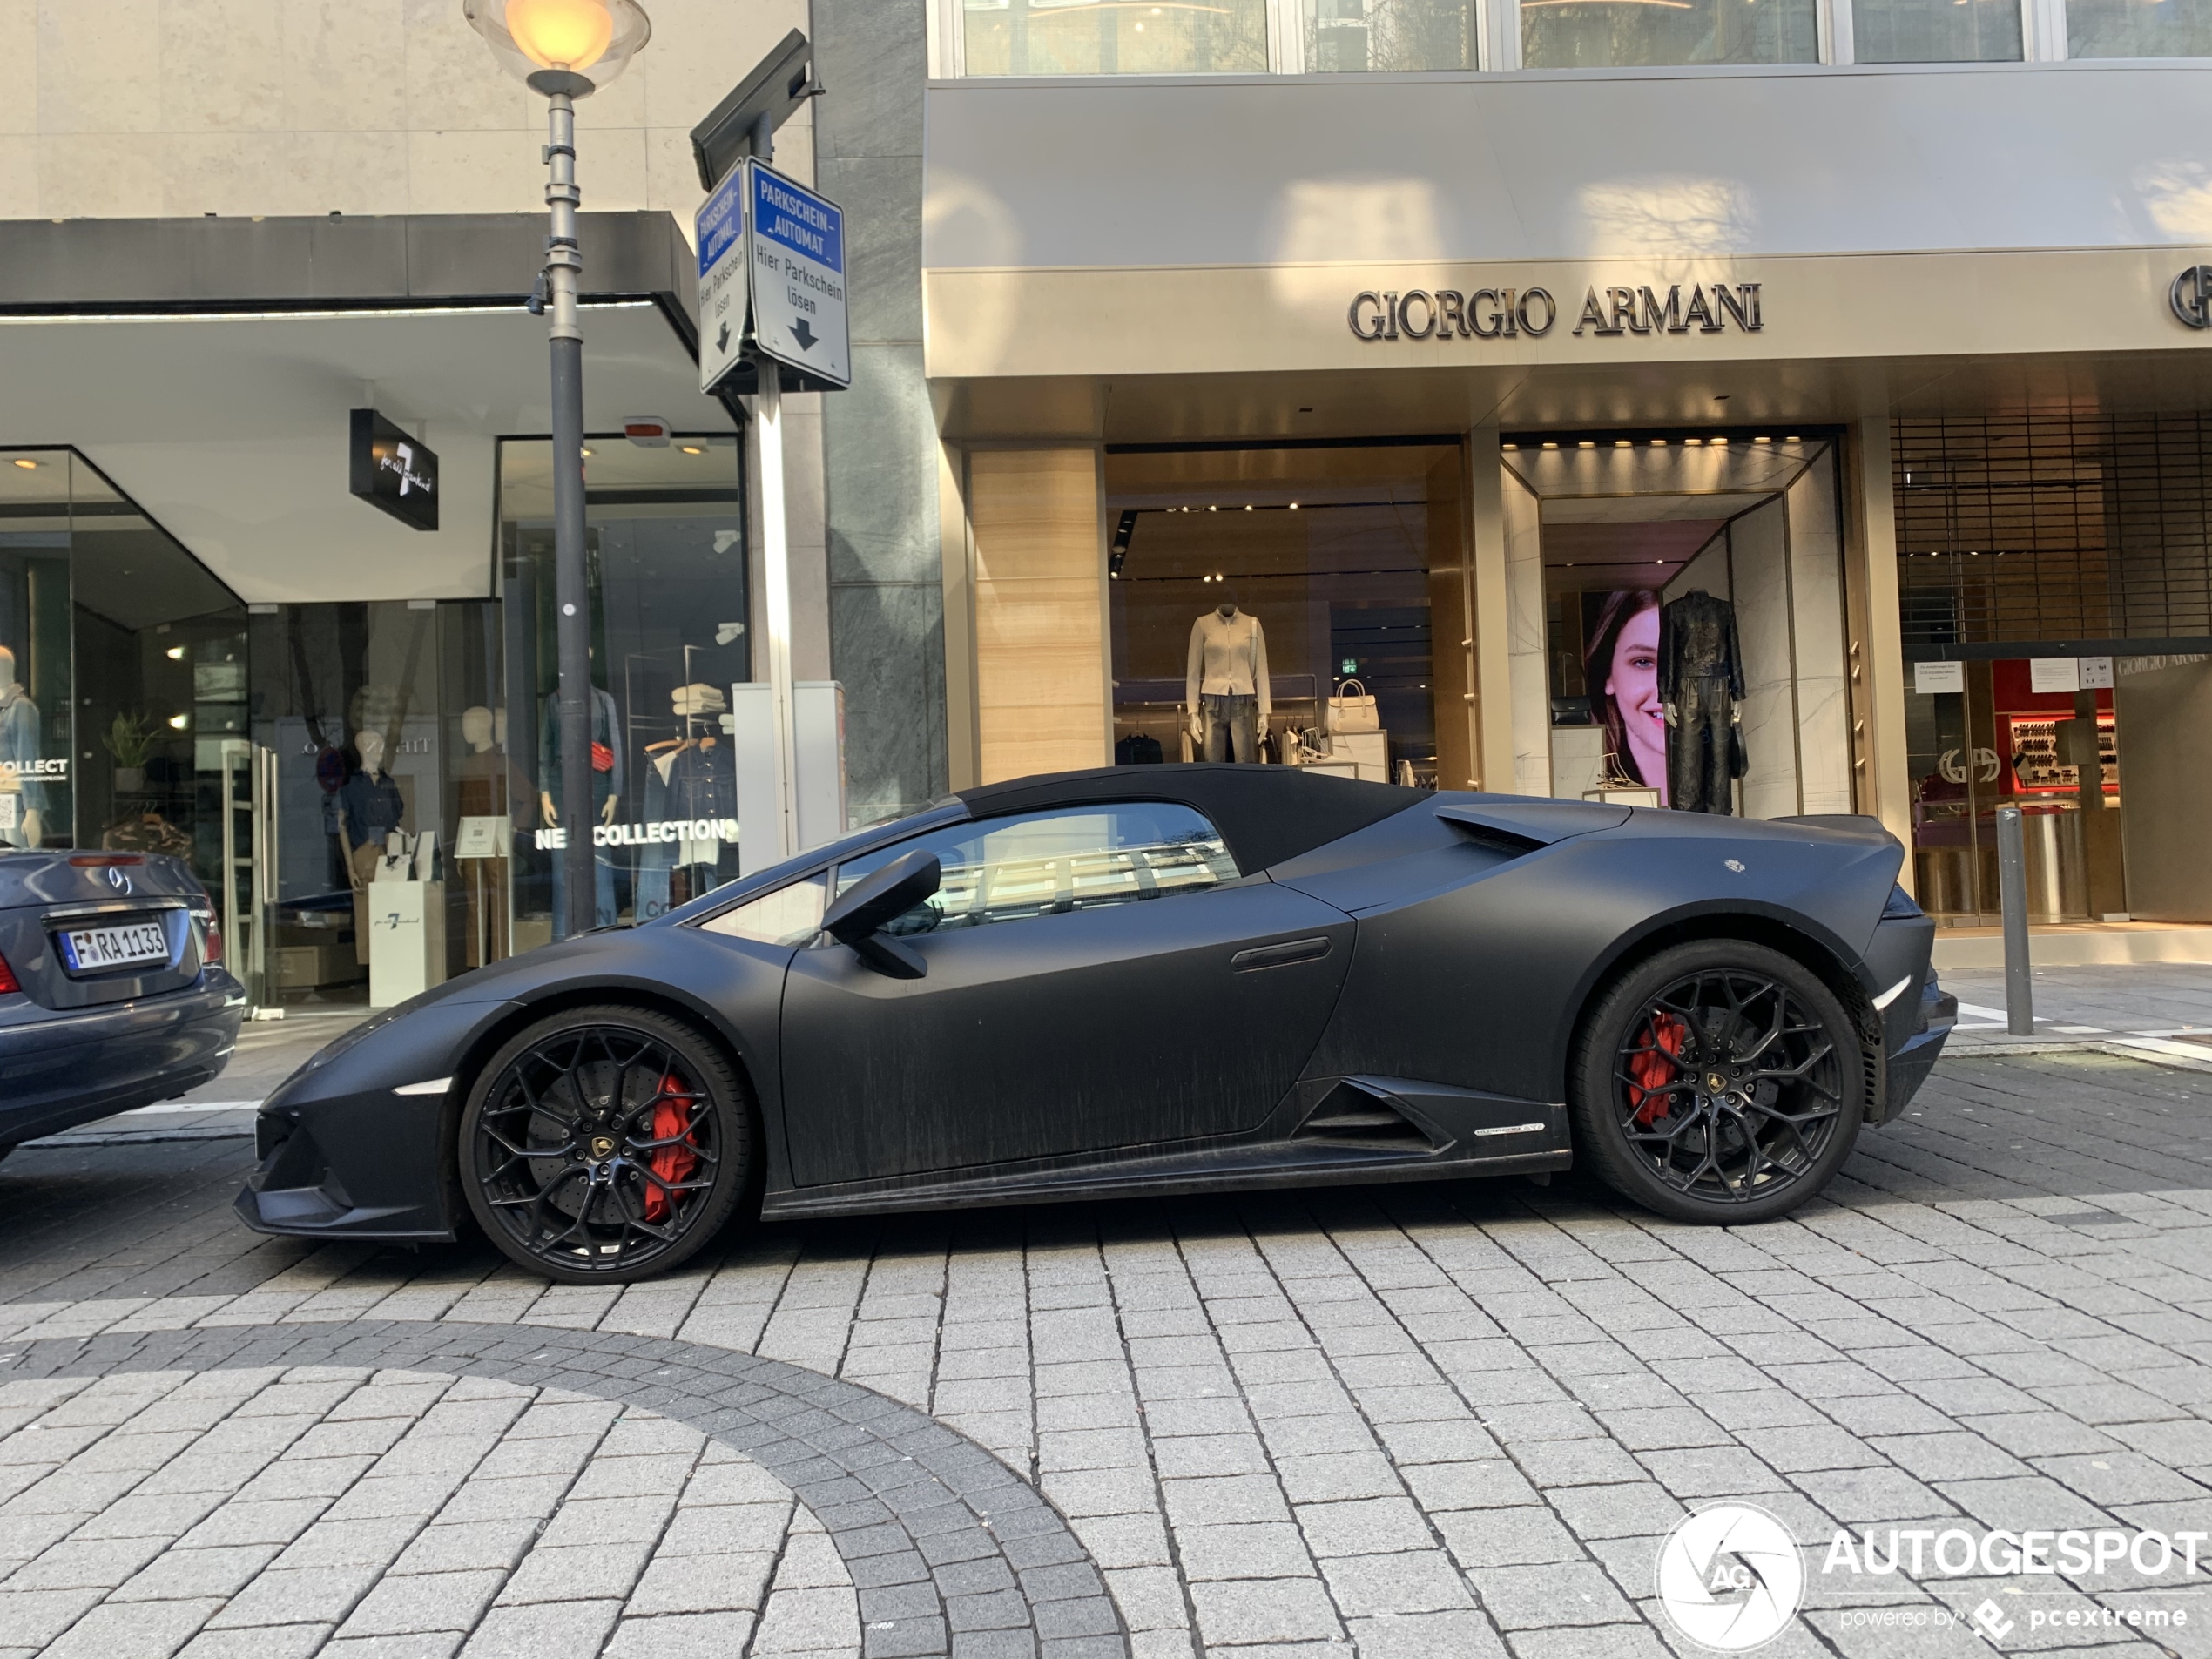
<path id="1" fill-rule="evenodd" d="M 763 1217 L 1562 1170 L 1763 1221 L 1951 1026 L 1871 818 L 1141 765 L 964 790 L 356 1026 L 263 1232 L 551 1279 Z"/>

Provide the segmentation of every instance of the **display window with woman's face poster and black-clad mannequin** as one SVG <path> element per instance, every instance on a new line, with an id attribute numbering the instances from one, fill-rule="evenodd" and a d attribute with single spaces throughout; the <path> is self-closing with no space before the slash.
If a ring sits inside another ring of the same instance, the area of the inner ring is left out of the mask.
<path id="1" fill-rule="evenodd" d="M 1551 690 L 1548 741 L 1515 734 L 1548 774 L 1524 759 L 1513 787 L 1854 810 L 1834 451 L 1803 434 L 1506 440 L 1509 602 L 1542 606 Z"/>

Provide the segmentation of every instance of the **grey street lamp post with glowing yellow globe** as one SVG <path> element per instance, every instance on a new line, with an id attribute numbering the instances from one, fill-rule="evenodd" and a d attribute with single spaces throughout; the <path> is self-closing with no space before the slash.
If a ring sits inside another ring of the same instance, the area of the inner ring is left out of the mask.
<path id="1" fill-rule="evenodd" d="M 591 575 L 584 560 L 584 330 L 575 288 L 584 272 L 575 212 L 575 100 L 619 75 L 653 35 L 637 0 L 462 0 L 462 15 L 493 58 L 546 100 L 546 263 L 531 310 L 551 312 L 553 341 L 553 604 L 560 659 L 562 889 L 571 933 L 597 925 L 591 843 Z M 619 743 L 608 732 L 608 743 Z M 591 920 L 584 920 L 591 916 Z"/>

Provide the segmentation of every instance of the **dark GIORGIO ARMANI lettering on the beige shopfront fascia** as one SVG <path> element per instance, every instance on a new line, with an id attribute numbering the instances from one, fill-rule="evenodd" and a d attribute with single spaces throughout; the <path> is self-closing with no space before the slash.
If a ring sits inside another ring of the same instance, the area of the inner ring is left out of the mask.
<path id="1" fill-rule="evenodd" d="M 1498 341 L 1542 338 L 1566 316 L 1546 288 L 1458 288 L 1363 290 L 1352 296 L 1345 321 L 1363 341 Z M 1590 288 L 1571 334 L 1721 334 L 1736 327 L 1756 334 L 1759 283 L 1668 283 Z"/>

